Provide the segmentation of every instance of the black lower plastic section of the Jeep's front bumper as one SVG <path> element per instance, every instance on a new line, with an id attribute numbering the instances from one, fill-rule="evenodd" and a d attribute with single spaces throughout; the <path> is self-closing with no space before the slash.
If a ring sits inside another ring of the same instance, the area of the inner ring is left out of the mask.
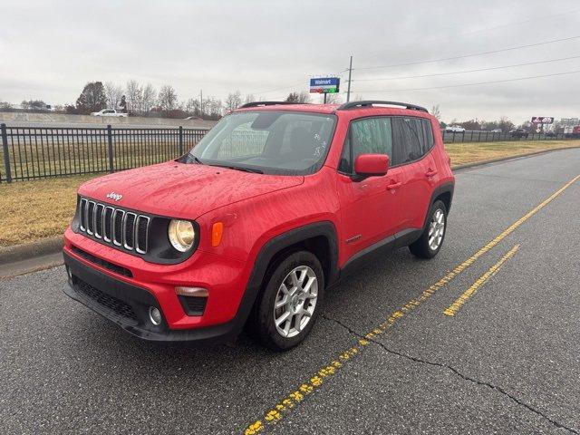
<path id="1" fill-rule="evenodd" d="M 170 329 L 164 314 L 160 325 L 152 324 L 150 307 L 163 313 L 155 295 L 87 266 L 66 252 L 63 257 L 69 273 L 64 293 L 144 340 L 221 343 L 234 340 L 246 322 L 247 310 L 242 309 L 227 323 L 196 329 Z"/>

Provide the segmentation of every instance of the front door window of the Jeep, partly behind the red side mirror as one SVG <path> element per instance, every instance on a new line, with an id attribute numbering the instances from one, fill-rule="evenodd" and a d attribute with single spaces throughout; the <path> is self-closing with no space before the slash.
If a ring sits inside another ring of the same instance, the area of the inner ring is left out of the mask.
<path id="1" fill-rule="evenodd" d="M 339 170 L 353 173 L 353 161 L 361 154 L 387 154 L 391 158 L 391 118 L 367 118 L 351 122 Z"/>

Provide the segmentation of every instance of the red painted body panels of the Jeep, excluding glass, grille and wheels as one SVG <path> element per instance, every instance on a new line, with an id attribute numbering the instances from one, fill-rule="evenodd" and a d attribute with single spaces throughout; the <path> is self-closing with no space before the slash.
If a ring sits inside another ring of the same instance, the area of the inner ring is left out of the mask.
<path id="1" fill-rule="evenodd" d="M 454 180 L 439 122 L 429 113 L 392 107 L 340 111 L 335 105 L 310 104 L 238 111 L 256 110 L 335 113 L 333 140 L 322 169 L 307 176 L 263 175 L 169 161 L 92 179 L 79 189 L 80 196 L 143 213 L 195 220 L 198 247 L 181 263 L 156 264 L 69 227 L 64 234 L 64 253 L 104 275 L 148 290 L 159 302 L 170 330 L 224 324 L 236 316 L 258 253 L 269 240 L 308 224 L 331 222 L 337 238 L 337 266 L 342 268 L 383 238 L 405 228 L 423 227 L 433 192 Z M 377 116 L 429 120 L 435 144 L 420 160 L 391 168 L 382 177 L 353 180 L 338 171 L 349 123 Z M 112 191 L 122 194 L 120 201 L 107 198 Z M 223 237 L 218 247 L 212 247 L 211 230 L 216 222 L 223 223 Z M 132 277 L 79 256 L 73 247 L 126 267 Z M 184 312 L 175 291 L 179 285 L 208 289 L 203 315 Z"/>

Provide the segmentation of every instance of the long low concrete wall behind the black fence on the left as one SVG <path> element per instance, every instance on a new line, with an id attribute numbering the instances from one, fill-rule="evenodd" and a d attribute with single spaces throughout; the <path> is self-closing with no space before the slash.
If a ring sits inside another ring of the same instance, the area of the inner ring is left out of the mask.
<path id="1" fill-rule="evenodd" d="M 11 123 L 31 123 L 31 124 L 97 124 L 101 125 L 139 125 L 159 126 L 159 127 L 179 127 L 190 129 L 210 129 L 216 125 L 216 121 L 198 121 L 198 120 L 170 120 L 167 118 L 103 118 L 90 115 L 67 115 L 63 113 L 25 113 L 22 111 L 3 111 L 0 112 L 0 122 Z"/>

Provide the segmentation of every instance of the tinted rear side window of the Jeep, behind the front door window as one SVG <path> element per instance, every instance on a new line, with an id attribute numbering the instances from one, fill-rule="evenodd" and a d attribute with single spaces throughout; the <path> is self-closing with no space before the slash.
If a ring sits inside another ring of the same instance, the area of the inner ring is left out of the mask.
<path id="1" fill-rule="evenodd" d="M 429 152 L 433 146 L 430 121 L 412 117 L 396 117 L 392 120 L 393 165 L 419 160 Z"/>

